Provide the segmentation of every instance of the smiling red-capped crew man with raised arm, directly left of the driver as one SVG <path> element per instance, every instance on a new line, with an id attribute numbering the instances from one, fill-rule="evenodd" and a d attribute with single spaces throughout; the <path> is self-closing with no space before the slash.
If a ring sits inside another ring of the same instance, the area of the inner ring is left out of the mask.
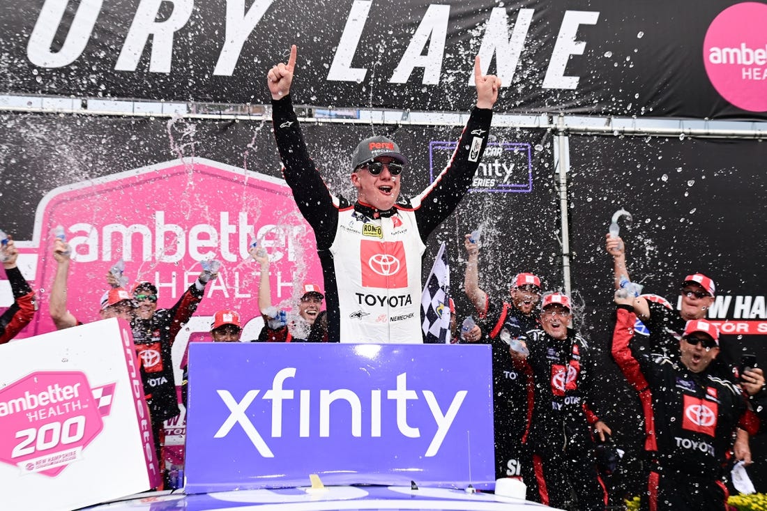
<path id="1" fill-rule="evenodd" d="M 322 309 L 325 296 L 317 284 L 301 286 L 298 315 L 288 314 L 272 306 L 269 283 L 269 257 L 262 249 L 250 249 L 250 255 L 261 267 L 258 280 L 258 309 L 264 318 L 259 342 L 328 342 L 328 321 Z"/>

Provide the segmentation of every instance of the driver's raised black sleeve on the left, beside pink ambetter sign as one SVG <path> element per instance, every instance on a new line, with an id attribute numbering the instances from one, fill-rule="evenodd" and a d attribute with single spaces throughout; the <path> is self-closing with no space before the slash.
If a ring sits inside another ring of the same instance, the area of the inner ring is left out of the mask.
<path id="1" fill-rule="evenodd" d="M 272 100 L 272 125 L 282 160 L 282 174 L 293 191 L 298 210 L 314 229 L 317 248 L 330 249 L 338 225 L 338 209 L 309 156 L 290 94 Z"/>

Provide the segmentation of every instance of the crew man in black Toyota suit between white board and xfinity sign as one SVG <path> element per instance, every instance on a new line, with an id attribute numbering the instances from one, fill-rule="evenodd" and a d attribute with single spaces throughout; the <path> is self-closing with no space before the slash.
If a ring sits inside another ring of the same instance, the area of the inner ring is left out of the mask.
<path id="1" fill-rule="evenodd" d="M 203 271 L 193 285 L 171 308 L 157 308 L 157 288 L 151 282 L 133 286 L 134 318 L 130 321 L 133 344 L 139 359 L 146 405 L 149 407 L 157 460 L 163 480 L 166 476 L 163 457 L 163 423 L 179 414 L 176 378 L 173 375 L 171 348 L 181 327 L 197 310 L 205 286 L 217 273 Z"/>

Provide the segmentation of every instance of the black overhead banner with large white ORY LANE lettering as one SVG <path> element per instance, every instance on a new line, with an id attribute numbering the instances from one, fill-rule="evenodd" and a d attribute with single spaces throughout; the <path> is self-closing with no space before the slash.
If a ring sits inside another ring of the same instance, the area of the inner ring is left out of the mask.
<path id="1" fill-rule="evenodd" d="M 496 110 L 765 118 L 767 3 L 703 0 L 0 0 L 4 92 L 456 110 L 472 65 Z M 285 28 L 290 28 L 286 30 Z M 660 59 L 660 60 L 659 60 Z M 605 87 L 605 84 L 609 84 Z"/>

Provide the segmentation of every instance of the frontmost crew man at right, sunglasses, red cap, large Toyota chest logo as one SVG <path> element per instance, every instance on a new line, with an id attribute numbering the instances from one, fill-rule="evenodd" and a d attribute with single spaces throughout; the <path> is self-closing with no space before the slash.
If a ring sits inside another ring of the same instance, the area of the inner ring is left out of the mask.
<path id="1" fill-rule="evenodd" d="M 688 282 L 706 285 L 694 275 Z M 759 421 L 746 409 L 738 385 L 711 371 L 719 354 L 719 331 L 706 319 L 691 319 L 678 341 L 678 362 L 653 357 L 633 342 L 634 297 L 616 293 L 615 302 L 613 352 L 630 354 L 623 356 L 630 362 L 627 376 L 635 386 L 649 387 L 652 395 L 656 451 L 647 484 L 650 511 L 726 509 L 723 466 L 732 436 L 736 428 L 755 434 Z M 764 407 L 767 393 L 761 391 L 762 371 L 749 371 L 749 376 L 744 388 L 753 394 L 756 407 Z"/>

